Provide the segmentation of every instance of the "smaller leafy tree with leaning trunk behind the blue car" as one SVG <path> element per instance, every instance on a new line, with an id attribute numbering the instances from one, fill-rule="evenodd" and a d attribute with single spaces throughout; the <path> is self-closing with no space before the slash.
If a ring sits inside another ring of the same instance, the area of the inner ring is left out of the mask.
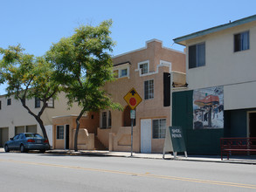
<path id="1" fill-rule="evenodd" d="M 37 121 L 44 137 L 48 139 L 42 114 L 47 107 L 49 99 L 55 99 L 60 91 L 59 83 L 54 81 L 54 68 L 43 57 L 34 57 L 24 53 L 20 45 L 9 46 L 8 49 L 0 48 L 1 83 L 7 83 L 7 97 L 13 95 L 20 100 L 22 106 Z M 26 99 L 37 98 L 42 102 L 38 113 L 34 112 L 27 104 Z"/>

